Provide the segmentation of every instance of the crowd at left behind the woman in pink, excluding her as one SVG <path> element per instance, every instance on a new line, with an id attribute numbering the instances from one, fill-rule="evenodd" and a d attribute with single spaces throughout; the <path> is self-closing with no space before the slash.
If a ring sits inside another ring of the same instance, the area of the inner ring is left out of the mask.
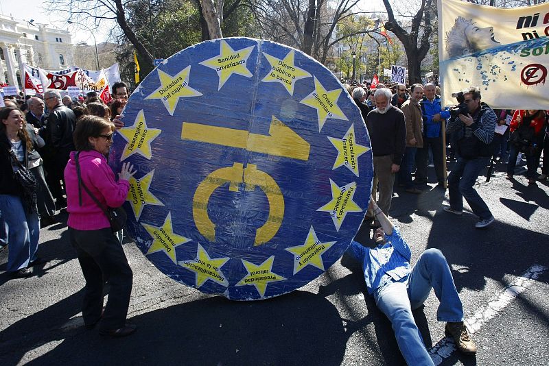
<path id="1" fill-rule="evenodd" d="M 0 108 L 0 249 L 9 244 L 11 276 L 27 276 L 28 268 L 40 261 L 36 256 L 40 227 L 55 223 L 56 213 L 67 208 L 64 171 L 75 149 L 77 121 L 94 114 L 110 123 L 124 108 L 128 87 L 118 82 L 113 90 L 108 104 L 95 92 L 61 97 L 58 90 L 47 90 L 41 95 L 4 97 L 5 106 Z M 15 160 L 34 175 L 34 200 L 25 199 L 25 190 L 14 178 L 14 171 L 19 170 Z"/>

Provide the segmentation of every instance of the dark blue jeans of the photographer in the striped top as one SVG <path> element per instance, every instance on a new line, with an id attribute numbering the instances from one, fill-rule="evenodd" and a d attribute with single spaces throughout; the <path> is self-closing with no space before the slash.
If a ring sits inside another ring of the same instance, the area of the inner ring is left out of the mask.
<path id="1" fill-rule="evenodd" d="M 457 211 L 463 211 L 463 198 L 467 200 L 473 213 L 486 220 L 492 217 L 492 212 L 486 202 L 478 195 L 473 185 L 482 169 L 486 169 L 490 158 L 480 157 L 474 159 L 458 158 L 452 172 L 448 175 L 448 195 L 450 207 Z"/>

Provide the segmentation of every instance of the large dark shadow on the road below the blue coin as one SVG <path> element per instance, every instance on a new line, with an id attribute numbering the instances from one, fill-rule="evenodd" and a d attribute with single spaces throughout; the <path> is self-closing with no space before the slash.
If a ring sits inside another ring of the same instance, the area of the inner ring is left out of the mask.
<path id="1" fill-rule="evenodd" d="M 62 330 L 59 324 L 23 339 L 21 334 L 48 318 L 67 319 L 71 314 L 62 309 L 80 308 L 75 297 L 80 294 L 0 332 L 5 364 L 61 341 L 27 365 L 340 365 L 347 343 L 334 305 L 304 291 L 257 302 L 212 296 L 161 308 L 129 319 L 139 328 L 124 339 L 106 339 L 83 326 Z"/>

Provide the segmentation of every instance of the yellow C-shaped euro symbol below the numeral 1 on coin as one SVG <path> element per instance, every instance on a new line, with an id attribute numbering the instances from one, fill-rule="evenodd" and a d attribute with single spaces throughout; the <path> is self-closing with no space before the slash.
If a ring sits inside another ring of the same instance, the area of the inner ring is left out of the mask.
<path id="1" fill-rule="evenodd" d="M 257 170 L 257 165 L 248 164 L 244 168 L 240 162 L 235 162 L 232 167 L 213 171 L 198 184 L 193 198 L 193 217 L 200 234 L 209 241 L 215 241 L 215 223 L 208 217 L 208 201 L 213 191 L 226 183 L 229 183 L 229 191 L 233 192 L 237 192 L 242 183 L 246 191 L 254 191 L 256 186 L 264 191 L 269 202 L 269 217 L 255 232 L 254 246 L 270 241 L 277 234 L 284 216 L 282 192 L 270 175 Z"/>

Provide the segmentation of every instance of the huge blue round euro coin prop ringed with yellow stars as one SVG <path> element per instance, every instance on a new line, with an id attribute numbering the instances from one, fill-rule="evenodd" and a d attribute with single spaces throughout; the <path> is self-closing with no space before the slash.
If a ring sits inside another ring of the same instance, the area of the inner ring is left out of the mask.
<path id="1" fill-rule="evenodd" d="M 184 49 L 141 82 L 110 163 L 135 164 L 128 232 L 163 273 L 258 300 L 340 258 L 369 204 L 369 136 L 336 77 L 266 40 Z"/>

